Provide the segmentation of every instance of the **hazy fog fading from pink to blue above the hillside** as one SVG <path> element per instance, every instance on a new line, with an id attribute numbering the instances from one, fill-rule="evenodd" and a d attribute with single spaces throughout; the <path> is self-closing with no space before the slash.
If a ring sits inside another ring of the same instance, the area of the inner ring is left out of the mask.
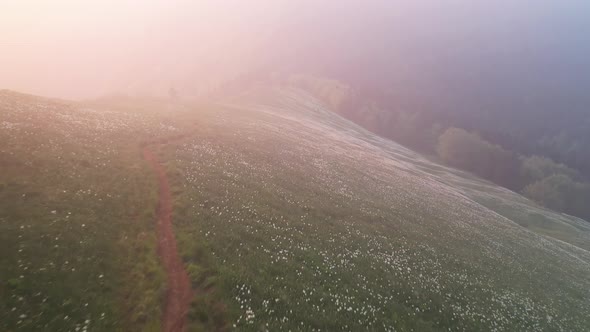
<path id="1" fill-rule="evenodd" d="M 196 95 L 264 68 L 482 103 L 490 89 L 526 103 L 544 91 L 583 98 L 589 12 L 583 0 L 4 0 L 0 88 Z"/>

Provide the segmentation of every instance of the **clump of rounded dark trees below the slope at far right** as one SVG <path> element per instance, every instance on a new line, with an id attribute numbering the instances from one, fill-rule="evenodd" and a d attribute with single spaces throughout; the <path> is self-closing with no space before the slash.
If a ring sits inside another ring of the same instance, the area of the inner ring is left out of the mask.
<path id="1" fill-rule="evenodd" d="M 511 187 L 550 209 L 590 220 L 590 183 L 564 164 L 507 151 L 459 128 L 440 135 L 436 152 L 449 165 Z"/>

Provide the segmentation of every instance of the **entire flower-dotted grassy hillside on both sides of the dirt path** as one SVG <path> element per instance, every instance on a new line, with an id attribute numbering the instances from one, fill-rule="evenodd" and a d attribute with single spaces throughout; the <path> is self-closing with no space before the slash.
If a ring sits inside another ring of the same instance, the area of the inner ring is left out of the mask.
<path id="1" fill-rule="evenodd" d="M 158 329 L 146 140 L 172 186 L 189 330 L 590 329 L 587 223 L 300 90 L 183 108 L 3 92 L 0 110 L 1 330 Z"/>

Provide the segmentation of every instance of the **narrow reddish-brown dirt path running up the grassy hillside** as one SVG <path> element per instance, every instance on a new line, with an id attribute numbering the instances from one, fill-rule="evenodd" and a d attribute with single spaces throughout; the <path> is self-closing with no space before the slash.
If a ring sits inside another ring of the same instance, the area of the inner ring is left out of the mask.
<path id="1" fill-rule="evenodd" d="M 172 194 L 166 170 L 148 146 L 143 148 L 143 158 L 158 176 L 160 187 L 157 211 L 158 254 L 168 281 L 162 328 L 164 332 L 179 332 L 186 325 L 186 315 L 192 299 L 191 284 L 176 247 L 172 226 Z"/>

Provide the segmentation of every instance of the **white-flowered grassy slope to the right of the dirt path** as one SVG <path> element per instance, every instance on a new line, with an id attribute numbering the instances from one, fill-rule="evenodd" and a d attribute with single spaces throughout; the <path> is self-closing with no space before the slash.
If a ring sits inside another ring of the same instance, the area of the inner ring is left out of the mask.
<path id="1" fill-rule="evenodd" d="M 197 122 L 164 153 L 177 236 L 194 285 L 223 299 L 237 329 L 590 327 L 583 221 L 433 164 L 298 90 L 254 90 Z M 580 247 L 516 212 L 571 227 Z"/>

